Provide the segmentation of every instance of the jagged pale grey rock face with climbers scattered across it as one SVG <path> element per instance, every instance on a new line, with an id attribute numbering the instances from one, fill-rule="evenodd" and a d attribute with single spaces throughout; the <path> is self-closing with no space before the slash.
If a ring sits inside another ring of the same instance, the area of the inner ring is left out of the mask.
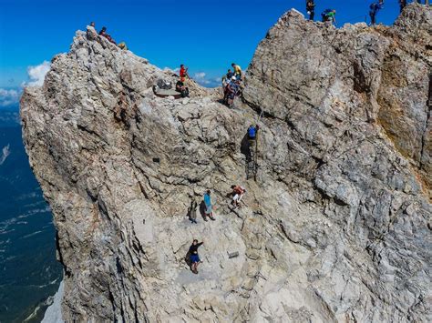
<path id="1" fill-rule="evenodd" d="M 431 28 L 420 5 L 376 29 L 291 11 L 234 109 L 193 83 L 190 99 L 156 97 L 170 72 L 77 32 L 21 101 L 58 230 L 64 318 L 430 321 Z M 232 184 L 247 188 L 234 211 Z M 207 188 L 216 221 L 191 225 Z M 198 276 L 184 262 L 193 238 Z"/>

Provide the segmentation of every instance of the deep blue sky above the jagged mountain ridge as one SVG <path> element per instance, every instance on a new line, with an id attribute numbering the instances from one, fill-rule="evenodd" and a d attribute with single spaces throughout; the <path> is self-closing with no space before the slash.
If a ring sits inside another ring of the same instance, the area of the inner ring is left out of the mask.
<path id="1" fill-rule="evenodd" d="M 372 0 L 316 0 L 315 18 L 327 7 L 339 25 L 364 21 Z M 77 29 L 95 21 L 116 41 L 159 67 L 184 63 L 190 75 L 214 80 L 232 61 L 246 68 L 256 45 L 279 16 L 304 0 L 0 0 L 0 88 L 28 81 L 29 66 L 67 52 Z M 386 0 L 378 21 L 391 25 L 397 0 Z M 2 92 L 0 91 L 0 96 Z M 1 101 L 0 101 L 1 104 Z"/>

